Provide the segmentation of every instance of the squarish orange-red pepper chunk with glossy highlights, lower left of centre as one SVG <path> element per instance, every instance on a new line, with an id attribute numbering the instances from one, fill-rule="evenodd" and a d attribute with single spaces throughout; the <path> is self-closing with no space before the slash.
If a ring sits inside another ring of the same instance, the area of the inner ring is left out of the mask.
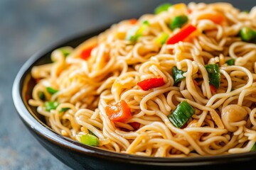
<path id="1" fill-rule="evenodd" d="M 132 118 L 131 108 L 129 108 L 124 100 L 107 105 L 105 111 L 110 120 L 115 122 L 125 122 Z"/>

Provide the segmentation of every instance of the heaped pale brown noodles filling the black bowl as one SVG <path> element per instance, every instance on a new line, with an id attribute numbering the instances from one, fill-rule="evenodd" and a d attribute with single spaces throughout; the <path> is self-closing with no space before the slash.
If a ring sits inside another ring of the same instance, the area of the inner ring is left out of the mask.
<path id="1" fill-rule="evenodd" d="M 176 16 L 187 21 L 172 29 Z M 256 30 L 255 19 L 256 7 L 245 13 L 227 3 L 190 3 L 121 21 L 78 47 L 54 50 L 52 63 L 33 67 L 36 85 L 28 102 L 55 132 L 82 143 L 90 134 L 98 141 L 92 146 L 112 152 L 250 152 L 256 142 L 256 38 L 243 40 L 240 30 Z M 195 30 L 171 42 L 189 26 Z M 211 77 L 208 66 L 218 66 L 218 73 Z M 162 84 L 139 84 L 154 78 Z M 121 101 L 131 116 L 114 120 L 107 108 Z M 194 112 L 178 127 L 170 116 L 185 102 Z"/>

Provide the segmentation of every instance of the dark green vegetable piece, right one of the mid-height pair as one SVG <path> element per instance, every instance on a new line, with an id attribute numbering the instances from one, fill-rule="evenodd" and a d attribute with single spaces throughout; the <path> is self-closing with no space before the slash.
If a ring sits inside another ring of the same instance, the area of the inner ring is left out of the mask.
<path id="1" fill-rule="evenodd" d="M 218 64 L 207 64 L 205 67 L 208 72 L 210 84 L 218 89 L 220 87 L 220 70 Z"/>

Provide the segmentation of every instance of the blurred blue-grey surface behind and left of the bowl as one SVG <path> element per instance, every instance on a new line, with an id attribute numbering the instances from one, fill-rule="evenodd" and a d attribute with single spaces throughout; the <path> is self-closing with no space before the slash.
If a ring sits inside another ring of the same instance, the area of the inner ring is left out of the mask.
<path id="1" fill-rule="evenodd" d="M 16 113 L 11 88 L 22 64 L 53 42 L 151 13 L 163 2 L 0 0 L 0 169 L 70 169 L 38 143 Z M 242 10 L 256 5 L 255 0 L 232 2 Z"/>

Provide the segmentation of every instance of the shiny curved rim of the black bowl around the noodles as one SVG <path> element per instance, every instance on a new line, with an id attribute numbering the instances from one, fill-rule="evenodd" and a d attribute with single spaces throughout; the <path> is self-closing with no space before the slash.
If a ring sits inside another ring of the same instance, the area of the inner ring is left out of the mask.
<path id="1" fill-rule="evenodd" d="M 26 107 L 26 104 L 24 103 L 24 98 L 22 96 L 24 79 L 31 71 L 31 67 L 33 67 L 33 64 L 35 64 L 39 60 L 42 60 L 43 57 L 46 57 L 46 54 L 52 52 L 58 47 L 66 46 L 68 45 L 68 43 L 78 40 L 82 37 L 90 38 L 92 37 L 92 35 L 98 35 L 107 28 L 110 28 L 110 26 L 112 26 L 112 24 L 108 24 L 107 26 L 101 26 L 92 30 L 87 30 L 82 33 L 76 33 L 75 35 L 70 35 L 63 40 L 59 40 L 58 42 L 53 42 L 48 47 L 44 47 L 43 50 L 36 52 L 34 55 L 28 58 L 26 62 L 23 63 L 22 67 L 19 69 L 14 79 L 14 84 L 12 87 L 12 98 L 16 111 L 27 128 L 33 130 L 49 142 L 58 144 L 68 149 L 72 149 L 75 152 L 80 152 L 80 154 L 85 154 L 90 157 L 101 157 L 102 159 L 107 160 L 114 159 L 117 162 L 129 162 L 130 164 L 151 164 L 157 166 L 199 166 L 209 164 L 224 164 L 226 162 L 243 162 L 256 159 L 256 152 L 177 158 L 144 157 L 133 154 L 122 154 L 107 151 L 105 149 L 100 149 L 97 147 L 83 145 L 80 142 L 77 142 L 68 137 L 62 136 L 57 132 L 54 132 L 46 124 L 38 121 L 38 118 L 36 118 L 35 115 L 32 115 L 31 111 L 29 111 L 29 109 Z"/>

